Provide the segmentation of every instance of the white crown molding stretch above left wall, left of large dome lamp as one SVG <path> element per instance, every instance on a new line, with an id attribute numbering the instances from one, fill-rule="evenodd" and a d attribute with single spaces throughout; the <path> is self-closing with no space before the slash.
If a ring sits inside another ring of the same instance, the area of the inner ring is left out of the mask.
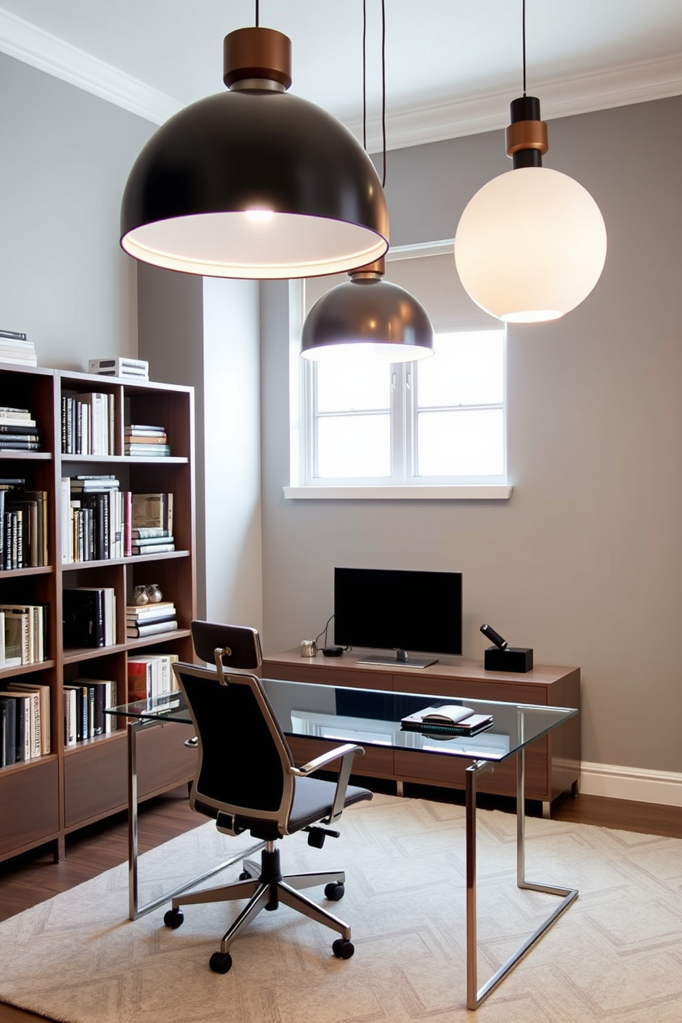
<path id="1" fill-rule="evenodd" d="M 182 106 L 130 75 L 0 8 L 0 51 L 154 124 Z"/>

